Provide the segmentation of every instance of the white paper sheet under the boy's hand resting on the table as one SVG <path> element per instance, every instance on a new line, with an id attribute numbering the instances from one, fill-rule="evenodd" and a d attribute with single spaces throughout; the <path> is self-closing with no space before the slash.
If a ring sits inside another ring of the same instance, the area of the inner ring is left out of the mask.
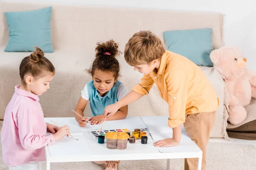
<path id="1" fill-rule="evenodd" d="M 154 142 L 172 138 L 172 133 L 150 133 Z M 181 133 L 180 144 L 175 147 L 157 147 L 161 153 L 177 152 L 198 152 L 200 148 L 193 142 L 186 133 Z"/>

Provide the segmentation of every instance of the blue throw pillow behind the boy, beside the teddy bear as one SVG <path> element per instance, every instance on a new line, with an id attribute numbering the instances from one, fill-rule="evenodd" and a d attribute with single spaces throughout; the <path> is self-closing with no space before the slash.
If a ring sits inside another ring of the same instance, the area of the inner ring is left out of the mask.
<path id="1" fill-rule="evenodd" d="M 212 28 L 165 31 L 163 36 L 169 51 L 187 57 L 196 65 L 213 66 Z"/>

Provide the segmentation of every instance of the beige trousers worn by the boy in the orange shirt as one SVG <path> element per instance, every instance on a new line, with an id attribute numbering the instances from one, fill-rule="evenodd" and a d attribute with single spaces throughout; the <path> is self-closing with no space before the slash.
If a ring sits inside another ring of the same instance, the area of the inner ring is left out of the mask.
<path id="1" fill-rule="evenodd" d="M 215 122 L 216 111 L 189 114 L 186 117 L 184 128 L 190 138 L 203 151 L 202 170 L 206 166 L 206 145 Z M 198 158 L 185 159 L 185 170 L 197 170 Z"/>

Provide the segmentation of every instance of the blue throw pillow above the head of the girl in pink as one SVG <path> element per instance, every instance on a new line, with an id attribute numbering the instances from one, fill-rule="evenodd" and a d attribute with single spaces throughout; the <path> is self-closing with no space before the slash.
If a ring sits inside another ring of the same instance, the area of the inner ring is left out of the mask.
<path id="1" fill-rule="evenodd" d="M 34 51 L 34 46 L 52 53 L 52 7 L 33 11 L 5 12 L 9 40 L 4 51 Z"/>

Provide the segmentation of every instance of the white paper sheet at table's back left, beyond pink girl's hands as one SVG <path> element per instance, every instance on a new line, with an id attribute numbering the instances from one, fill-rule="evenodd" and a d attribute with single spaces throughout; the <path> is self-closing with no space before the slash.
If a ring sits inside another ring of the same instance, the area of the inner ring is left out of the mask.
<path id="1" fill-rule="evenodd" d="M 45 117 L 44 121 L 46 123 L 55 125 L 53 122 L 57 123 L 57 125 L 64 126 L 68 125 L 70 127 L 70 134 L 82 134 L 83 127 L 80 127 L 78 122 L 74 117 Z"/>

